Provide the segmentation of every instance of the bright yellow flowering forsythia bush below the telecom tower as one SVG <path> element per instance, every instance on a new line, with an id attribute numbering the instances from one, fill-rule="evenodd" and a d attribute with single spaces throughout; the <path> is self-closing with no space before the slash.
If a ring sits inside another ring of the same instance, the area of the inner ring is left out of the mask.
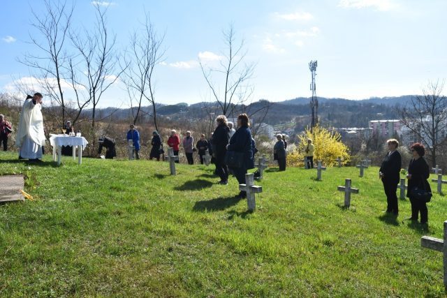
<path id="1" fill-rule="evenodd" d="M 329 131 L 321 126 L 314 127 L 311 132 L 309 128 L 301 135 L 298 135 L 297 149 L 287 154 L 287 165 L 289 167 L 303 167 L 307 139 L 312 139 L 315 146 L 314 165 L 317 161 L 322 161 L 326 167 L 337 165 L 337 158 L 341 157 L 343 165 L 351 160 L 349 148 L 343 144 L 342 136 L 337 131 Z"/>

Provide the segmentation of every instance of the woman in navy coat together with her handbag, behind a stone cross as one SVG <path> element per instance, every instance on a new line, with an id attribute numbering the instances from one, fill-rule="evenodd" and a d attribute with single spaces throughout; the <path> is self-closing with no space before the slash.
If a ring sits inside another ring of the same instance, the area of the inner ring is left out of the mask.
<path id="1" fill-rule="evenodd" d="M 237 117 L 237 131 L 231 137 L 230 144 L 227 145 L 226 163 L 233 170 L 237 182 L 245 184 L 245 174 L 247 170 L 254 168 L 253 149 L 251 144 L 251 131 L 249 128 L 249 117 L 247 114 L 240 114 Z M 241 191 L 240 198 L 247 198 L 247 193 Z"/>

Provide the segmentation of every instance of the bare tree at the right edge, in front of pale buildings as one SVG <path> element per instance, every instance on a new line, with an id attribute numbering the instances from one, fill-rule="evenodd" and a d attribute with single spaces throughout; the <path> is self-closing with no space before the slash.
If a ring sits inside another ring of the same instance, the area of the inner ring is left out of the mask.
<path id="1" fill-rule="evenodd" d="M 402 122 L 420 142 L 427 145 L 432 165 L 437 164 L 437 152 L 447 130 L 447 98 L 442 95 L 444 82 L 429 82 L 423 96 L 414 96 L 407 107 L 398 108 Z"/>

